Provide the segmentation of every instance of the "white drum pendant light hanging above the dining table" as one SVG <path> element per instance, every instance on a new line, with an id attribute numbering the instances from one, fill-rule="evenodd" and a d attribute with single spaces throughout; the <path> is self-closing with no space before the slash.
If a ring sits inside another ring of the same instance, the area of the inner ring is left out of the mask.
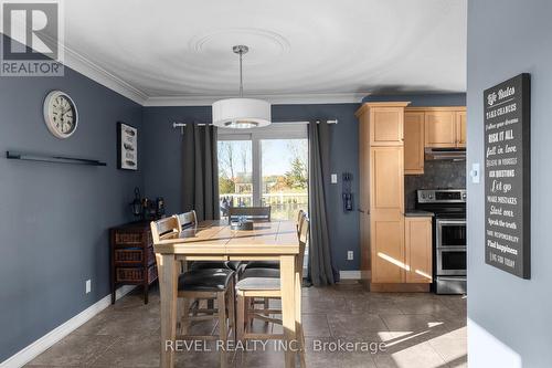
<path id="1" fill-rule="evenodd" d="M 270 104 L 263 99 L 243 97 L 242 57 L 246 45 L 232 48 L 240 55 L 240 97 L 216 101 L 213 104 L 213 124 L 221 128 L 256 128 L 270 124 Z"/>

